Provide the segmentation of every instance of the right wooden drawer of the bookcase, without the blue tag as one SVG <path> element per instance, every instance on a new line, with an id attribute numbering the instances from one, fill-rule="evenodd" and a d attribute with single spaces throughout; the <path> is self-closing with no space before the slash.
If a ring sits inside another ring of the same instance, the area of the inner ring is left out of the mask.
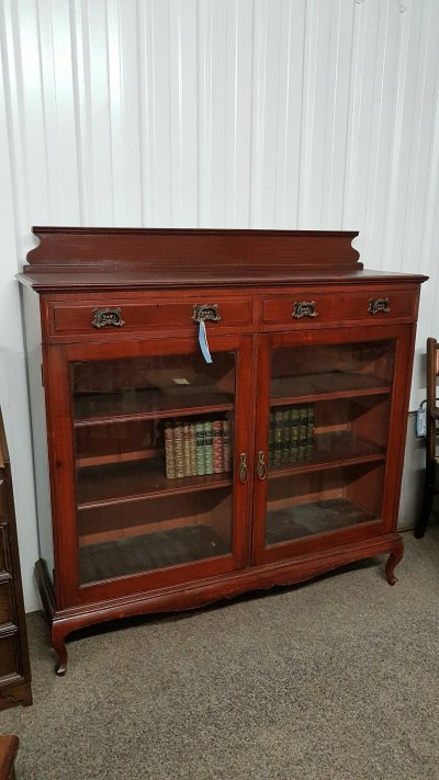
<path id="1" fill-rule="evenodd" d="M 309 327 L 312 324 L 415 318 L 417 297 L 410 290 L 344 290 L 334 293 L 300 292 L 266 298 L 262 321 L 270 325 Z"/>

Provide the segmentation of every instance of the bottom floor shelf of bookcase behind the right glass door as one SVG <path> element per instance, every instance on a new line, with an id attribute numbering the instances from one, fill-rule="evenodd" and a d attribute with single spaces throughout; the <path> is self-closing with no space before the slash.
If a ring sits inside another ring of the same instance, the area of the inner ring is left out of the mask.
<path id="1" fill-rule="evenodd" d="M 327 533 L 371 522 L 376 518 L 346 498 L 331 498 L 313 504 L 299 504 L 267 512 L 266 544 L 281 544 L 294 539 Z"/>

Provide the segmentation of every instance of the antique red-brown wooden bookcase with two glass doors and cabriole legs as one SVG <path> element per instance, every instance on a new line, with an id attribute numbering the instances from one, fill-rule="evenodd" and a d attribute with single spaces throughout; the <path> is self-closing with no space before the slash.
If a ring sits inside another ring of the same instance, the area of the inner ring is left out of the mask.
<path id="1" fill-rule="evenodd" d="M 58 674 L 66 635 L 100 621 L 381 553 L 394 584 L 424 276 L 363 270 L 356 233 L 34 233 L 20 281 Z"/>

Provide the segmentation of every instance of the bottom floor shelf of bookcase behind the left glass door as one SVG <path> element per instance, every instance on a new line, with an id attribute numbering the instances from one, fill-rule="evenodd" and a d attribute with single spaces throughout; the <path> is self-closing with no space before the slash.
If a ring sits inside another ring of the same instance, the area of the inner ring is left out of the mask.
<path id="1" fill-rule="evenodd" d="M 80 581 L 95 583 L 230 554 L 210 525 L 130 536 L 80 547 Z"/>

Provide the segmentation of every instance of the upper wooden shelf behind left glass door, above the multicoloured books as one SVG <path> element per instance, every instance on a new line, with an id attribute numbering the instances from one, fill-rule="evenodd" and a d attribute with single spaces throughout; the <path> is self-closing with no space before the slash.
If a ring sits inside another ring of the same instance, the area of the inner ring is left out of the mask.
<path id="1" fill-rule="evenodd" d="M 232 393 L 195 386 L 77 395 L 75 427 L 225 412 L 234 408 L 233 402 Z"/>

